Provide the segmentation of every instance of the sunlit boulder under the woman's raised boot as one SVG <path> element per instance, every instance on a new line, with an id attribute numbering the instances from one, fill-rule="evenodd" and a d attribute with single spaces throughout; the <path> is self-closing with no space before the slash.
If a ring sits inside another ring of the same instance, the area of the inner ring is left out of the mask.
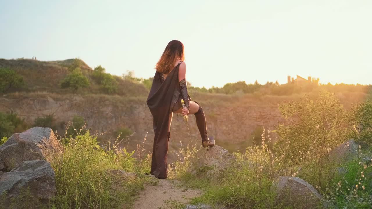
<path id="1" fill-rule="evenodd" d="M 234 155 L 218 145 L 202 150 L 201 155 L 189 167 L 189 172 L 195 175 L 218 176 L 235 161 Z"/>

